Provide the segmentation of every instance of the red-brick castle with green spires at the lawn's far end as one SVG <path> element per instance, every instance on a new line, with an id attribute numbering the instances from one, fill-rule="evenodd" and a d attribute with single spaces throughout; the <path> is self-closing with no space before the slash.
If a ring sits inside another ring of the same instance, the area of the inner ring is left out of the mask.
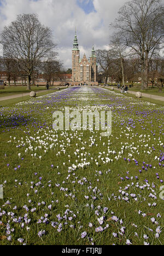
<path id="1" fill-rule="evenodd" d="M 80 50 L 77 35 L 75 34 L 72 49 L 72 83 L 97 85 L 97 63 L 95 49 L 92 47 L 92 53 L 89 59 L 84 54 L 80 59 Z"/>

